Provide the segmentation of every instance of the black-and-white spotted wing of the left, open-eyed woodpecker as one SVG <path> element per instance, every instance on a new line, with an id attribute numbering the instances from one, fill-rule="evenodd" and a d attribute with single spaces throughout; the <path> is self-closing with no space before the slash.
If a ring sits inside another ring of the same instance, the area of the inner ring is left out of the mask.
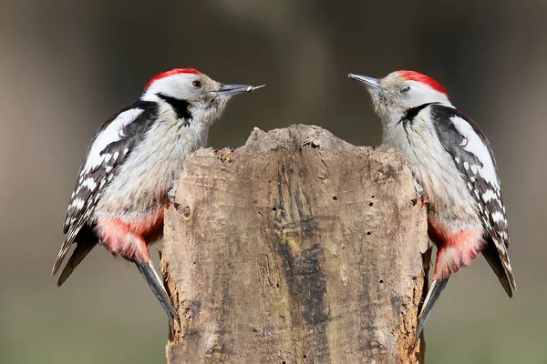
<path id="1" fill-rule="evenodd" d="M 89 144 L 70 197 L 63 227 L 67 236 L 57 255 L 52 275 L 55 275 L 78 233 L 93 215 L 101 192 L 116 175 L 131 150 L 146 135 L 157 118 L 157 113 L 158 107 L 155 103 L 138 100 L 110 116 L 98 128 Z"/>

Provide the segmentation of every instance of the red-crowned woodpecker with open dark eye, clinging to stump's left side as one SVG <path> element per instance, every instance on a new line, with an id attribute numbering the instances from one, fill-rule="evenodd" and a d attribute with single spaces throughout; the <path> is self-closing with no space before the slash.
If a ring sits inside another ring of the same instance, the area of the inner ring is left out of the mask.
<path id="1" fill-rule="evenodd" d="M 57 286 L 99 244 L 135 263 L 167 312 L 171 331 L 175 321 L 181 328 L 148 247 L 163 236 L 163 210 L 184 159 L 207 144 L 209 127 L 232 96 L 259 87 L 224 85 L 193 68 L 176 68 L 153 77 L 137 100 L 110 116 L 79 168 L 52 276 L 72 244 L 77 247 Z"/>

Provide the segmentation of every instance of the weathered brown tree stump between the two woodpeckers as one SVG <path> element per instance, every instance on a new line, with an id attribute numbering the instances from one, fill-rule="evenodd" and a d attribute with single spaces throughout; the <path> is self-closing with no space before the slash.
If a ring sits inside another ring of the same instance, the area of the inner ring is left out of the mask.
<path id="1" fill-rule="evenodd" d="M 168 363 L 418 363 L 426 209 L 396 151 L 255 128 L 185 162 L 162 272 Z"/>

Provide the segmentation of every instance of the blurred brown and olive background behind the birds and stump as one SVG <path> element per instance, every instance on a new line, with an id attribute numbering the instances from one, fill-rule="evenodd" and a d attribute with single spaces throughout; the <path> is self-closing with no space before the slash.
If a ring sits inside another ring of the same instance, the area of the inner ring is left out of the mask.
<path id="1" fill-rule="evenodd" d="M 0 0 L 0 362 L 165 362 L 165 314 L 132 265 L 97 248 L 63 288 L 49 272 L 94 131 L 151 76 L 191 66 L 268 85 L 232 102 L 212 147 L 295 123 L 376 146 L 348 72 L 415 69 L 446 86 L 496 153 L 519 291 L 507 298 L 482 258 L 451 279 L 428 363 L 547 363 L 546 12 L 544 0 Z"/>

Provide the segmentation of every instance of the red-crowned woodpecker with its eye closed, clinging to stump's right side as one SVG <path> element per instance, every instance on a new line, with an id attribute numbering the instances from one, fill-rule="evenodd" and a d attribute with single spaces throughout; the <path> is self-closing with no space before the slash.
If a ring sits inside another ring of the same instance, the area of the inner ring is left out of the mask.
<path id="1" fill-rule="evenodd" d="M 396 71 L 364 84 L 383 126 L 380 150 L 408 160 L 418 198 L 428 206 L 428 236 L 437 246 L 435 273 L 418 318 L 417 340 L 451 274 L 477 255 L 490 263 L 509 297 L 516 291 L 500 177 L 480 127 L 450 102 L 429 76 Z"/>

